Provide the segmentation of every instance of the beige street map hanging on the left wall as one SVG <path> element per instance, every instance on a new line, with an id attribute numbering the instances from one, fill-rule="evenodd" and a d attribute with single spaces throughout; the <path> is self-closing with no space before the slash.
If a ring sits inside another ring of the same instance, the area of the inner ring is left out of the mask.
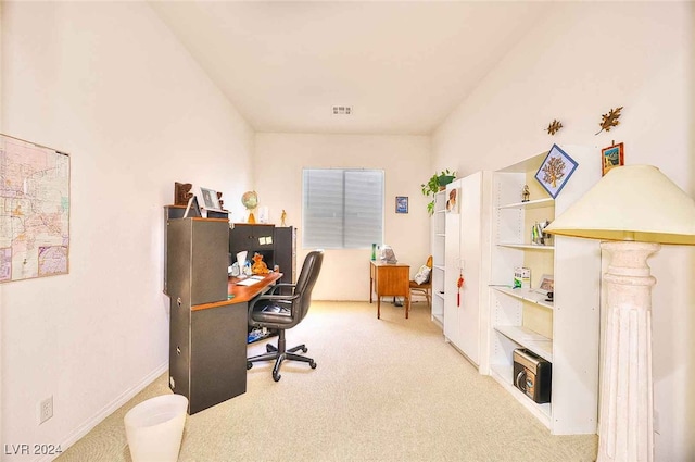
<path id="1" fill-rule="evenodd" d="M 70 155 L 0 135 L 0 283 L 67 274 Z"/>

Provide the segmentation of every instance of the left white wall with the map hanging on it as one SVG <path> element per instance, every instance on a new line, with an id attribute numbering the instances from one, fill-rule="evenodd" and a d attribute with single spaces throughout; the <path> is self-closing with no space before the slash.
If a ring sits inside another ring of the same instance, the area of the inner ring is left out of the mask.
<path id="1" fill-rule="evenodd" d="M 162 208 L 174 182 L 240 197 L 254 135 L 147 3 L 2 14 L 1 132 L 72 163 L 70 274 L 0 292 L 2 444 L 67 446 L 167 369 Z"/>

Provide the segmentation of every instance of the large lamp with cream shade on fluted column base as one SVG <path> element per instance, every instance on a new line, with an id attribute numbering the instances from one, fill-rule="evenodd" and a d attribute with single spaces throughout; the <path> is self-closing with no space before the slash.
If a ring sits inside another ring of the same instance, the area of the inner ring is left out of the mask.
<path id="1" fill-rule="evenodd" d="M 695 201 L 652 165 L 610 170 L 545 233 L 604 240 L 610 255 L 597 462 L 654 459 L 652 286 L 661 244 L 695 245 Z"/>

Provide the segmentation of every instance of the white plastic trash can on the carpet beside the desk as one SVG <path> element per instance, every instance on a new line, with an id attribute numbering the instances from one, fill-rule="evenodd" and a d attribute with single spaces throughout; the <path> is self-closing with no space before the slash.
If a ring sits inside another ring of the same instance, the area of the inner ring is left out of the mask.
<path id="1" fill-rule="evenodd" d="M 142 401 L 124 417 L 132 462 L 176 462 L 188 399 L 163 395 Z"/>

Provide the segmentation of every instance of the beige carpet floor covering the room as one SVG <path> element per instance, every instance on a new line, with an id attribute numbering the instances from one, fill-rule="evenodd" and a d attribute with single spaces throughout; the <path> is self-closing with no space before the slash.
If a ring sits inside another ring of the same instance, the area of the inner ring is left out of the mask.
<path id="1" fill-rule="evenodd" d="M 444 341 L 424 302 L 409 320 L 391 303 L 377 320 L 376 304 L 314 302 L 287 339 L 317 369 L 286 362 L 275 383 L 256 363 L 244 395 L 187 416 L 179 461 L 595 460 L 596 435 L 551 435 Z M 124 415 L 169 392 L 164 374 L 56 460 L 131 461 Z"/>

